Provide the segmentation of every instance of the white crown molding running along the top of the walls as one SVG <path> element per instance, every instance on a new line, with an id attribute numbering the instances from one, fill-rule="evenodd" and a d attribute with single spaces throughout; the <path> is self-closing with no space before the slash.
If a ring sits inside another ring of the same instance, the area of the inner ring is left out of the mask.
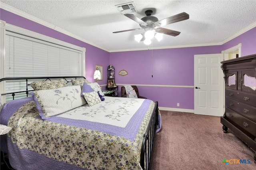
<path id="1" fill-rule="evenodd" d="M 0 8 L 2 8 L 2 9 L 4 9 L 4 10 L 7 10 L 7 11 L 9 11 L 9 12 L 12 12 L 12 13 L 14 13 L 14 14 L 17 14 L 17 15 L 19 15 L 19 16 L 22 16 L 22 17 L 24 17 L 24 18 L 27 18 L 27 19 L 29 19 L 29 20 L 31 20 L 31 21 L 34 21 L 34 22 L 36 22 L 36 23 L 38 23 L 38 24 L 41 24 L 41 25 L 43 25 L 43 26 L 46 26 L 46 27 L 51 28 L 51 29 L 53 29 L 53 30 L 56 30 L 56 31 L 58 31 L 58 32 L 61 32 L 61 33 L 65 34 L 65 35 L 67 35 L 67 36 L 70 36 L 70 37 L 75 38 L 75 39 L 77 39 L 77 40 L 80 40 L 80 41 L 82 41 L 82 42 L 85 42 L 85 43 L 88 43 L 88 44 L 90 44 L 90 45 L 93 45 L 94 47 L 98 47 L 98 48 L 100 48 L 100 49 L 102 49 L 102 50 L 104 50 L 104 51 L 110 52 L 110 53 L 111 53 L 111 52 L 124 52 L 124 51 L 142 51 L 142 50 L 148 50 L 148 49 L 170 49 L 170 48 L 186 48 L 186 47 L 202 47 L 202 46 L 223 45 L 224 43 L 226 43 L 226 42 L 228 42 L 228 41 L 230 41 L 230 40 L 232 40 L 232 39 L 234 39 L 234 38 L 240 36 L 241 34 L 247 32 L 248 30 L 250 30 L 250 29 L 256 27 L 256 22 L 254 22 L 254 23 L 250 24 L 249 26 L 247 26 L 246 28 L 240 30 L 240 31 L 237 32 L 236 34 L 234 34 L 234 35 L 232 35 L 232 36 L 226 38 L 226 39 L 223 40 L 222 42 L 217 42 L 217 43 L 200 43 L 200 44 L 163 46 L 163 47 L 153 47 L 153 48 L 152 48 L 152 47 L 151 47 L 151 48 L 150 48 L 150 47 L 145 47 L 145 48 L 136 48 L 136 49 L 109 50 L 109 49 L 106 49 L 106 48 L 104 48 L 104 47 L 100 47 L 99 45 L 96 45 L 96 44 L 94 44 L 94 43 L 92 43 L 92 42 L 90 42 L 90 41 L 88 41 L 88 40 L 85 40 L 85 39 L 83 39 L 83 38 L 81 38 L 81 37 L 79 37 L 79 36 L 77 36 L 77 35 L 75 35 L 75 34 L 72 34 L 72 33 L 68 32 L 68 31 L 66 31 L 66 30 L 64 30 L 64 29 L 62 29 L 62 28 L 59 28 L 59 27 L 57 27 L 57 26 L 54 26 L 53 24 L 50 24 L 50 23 L 48 23 L 48 22 L 45 22 L 44 20 L 41 20 L 41 19 L 39 19 L 39 18 L 36 18 L 36 17 L 34 17 L 34 16 L 30 15 L 30 14 L 27 14 L 26 12 L 23 12 L 23 11 L 21 11 L 21 10 L 18 10 L 18 9 L 16 9 L 16 8 L 12 7 L 12 6 L 9 6 L 9 5 L 7 5 L 7 4 L 4 4 L 3 2 L 0 2 Z"/>

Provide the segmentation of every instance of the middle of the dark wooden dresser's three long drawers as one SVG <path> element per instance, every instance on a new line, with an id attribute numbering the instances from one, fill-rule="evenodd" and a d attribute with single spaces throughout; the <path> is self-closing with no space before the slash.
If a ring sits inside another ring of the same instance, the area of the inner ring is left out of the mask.
<path id="1" fill-rule="evenodd" d="M 235 101 L 226 97 L 226 107 L 248 117 L 252 121 L 256 122 L 256 107 L 252 107 L 250 105 L 246 105 L 239 101 Z"/>

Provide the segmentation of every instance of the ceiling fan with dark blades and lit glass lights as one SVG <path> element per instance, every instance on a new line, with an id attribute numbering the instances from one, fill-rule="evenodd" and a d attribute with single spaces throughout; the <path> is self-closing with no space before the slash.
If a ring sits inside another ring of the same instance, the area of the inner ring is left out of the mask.
<path id="1" fill-rule="evenodd" d="M 156 36 L 157 33 L 166 34 L 166 35 L 169 35 L 169 36 L 178 36 L 180 34 L 180 32 L 178 32 L 178 31 L 169 30 L 169 29 L 166 29 L 166 28 L 161 28 L 160 26 L 166 26 L 168 24 L 172 24 L 172 23 L 175 23 L 175 22 L 180 22 L 180 21 L 189 19 L 189 14 L 187 14 L 186 12 L 182 12 L 180 14 L 170 16 L 170 17 L 165 18 L 163 20 L 158 20 L 158 18 L 156 18 L 154 16 L 151 16 L 152 13 L 153 13 L 152 10 L 146 10 L 145 11 L 146 16 L 141 18 L 141 19 L 138 18 L 137 16 L 135 16 L 134 14 L 124 14 L 124 16 L 126 16 L 126 17 L 130 18 L 131 20 L 134 20 L 135 22 L 140 24 L 141 28 L 134 28 L 134 29 L 130 29 L 130 30 L 122 30 L 122 31 L 117 31 L 117 32 L 113 32 L 113 33 L 120 33 L 120 32 L 127 32 L 127 31 L 134 31 L 134 30 L 144 29 L 145 32 L 142 33 L 142 34 L 139 34 L 139 35 L 135 35 L 135 38 L 137 36 L 136 40 L 138 42 L 145 40 L 150 44 L 151 39 L 154 36 Z M 155 27 L 158 27 L 158 28 L 155 28 Z M 157 36 L 156 36 L 156 38 L 157 38 Z M 148 40 L 150 40 L 150 42 Z M 144 43 L 145 43 L 145 41 L 144 41 Z M 158 40 L 158 41 L 160 41 L 160 40 Z"/>

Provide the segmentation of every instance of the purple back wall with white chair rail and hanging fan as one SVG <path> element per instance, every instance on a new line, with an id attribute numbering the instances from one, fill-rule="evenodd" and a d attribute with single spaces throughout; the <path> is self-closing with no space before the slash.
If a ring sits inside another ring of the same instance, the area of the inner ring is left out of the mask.
<path id="1" fill-rule="evenodd" d="M 110 53 L 110 64 L 115 67 L 117 84 L 193 86 L 194 55 L 220 52 L 220 46 L 156 49 L 153 57 L 152 50 L 115 52 Z M 118 75 L 122 69 L 128 75 Z M 194 109 L 193 88 L 138 86 L 138 89 L 141 96 L 158 101 L 160 107 Z"/>

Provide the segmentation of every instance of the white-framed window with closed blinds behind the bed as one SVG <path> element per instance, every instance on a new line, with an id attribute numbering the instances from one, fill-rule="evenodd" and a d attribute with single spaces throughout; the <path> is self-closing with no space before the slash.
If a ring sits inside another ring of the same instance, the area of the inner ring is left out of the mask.
<path id="1" fill-rule="evenodd" d="M 11 32 L 14 27 L 15 32 L 20 34 Z M 24 36 L 24 32 L 34 38 Z M 4 56 L 1 55 L 0 60 L 1 72 L 4 72 L 1 73 L 1 78 L 85 76 L 85 48 L 16 26 L 11 26 L 10 31 L 1 31 L 1 37 L 4 42 L 4 46 L 0 44 L 0 48 L 4 48 Z M 36 80 L 30 82 L 32 81 Z M 26 89 L 26 82 L 4 81 L 1 86 L 0 93 L 10 93 Z M 30 89 L 32 88 L 29 87 Z M 16 94 L 15 99 L 25 96 L 26 93 Z M 3 99 L 2 96 L 3 101 L 12 100 L 11 95 L 5 97 Z"/>

